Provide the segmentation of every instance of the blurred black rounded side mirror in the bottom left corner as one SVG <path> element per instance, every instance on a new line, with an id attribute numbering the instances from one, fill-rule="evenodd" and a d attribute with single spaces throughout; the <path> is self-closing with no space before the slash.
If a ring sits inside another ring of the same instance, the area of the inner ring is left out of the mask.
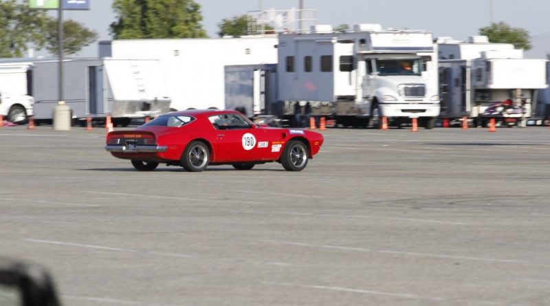
<path id="1" fill-rule="evenodd" d="M 0 257 L 0 305 L 61 306 L 50 274 L 39 266 Z"/>

